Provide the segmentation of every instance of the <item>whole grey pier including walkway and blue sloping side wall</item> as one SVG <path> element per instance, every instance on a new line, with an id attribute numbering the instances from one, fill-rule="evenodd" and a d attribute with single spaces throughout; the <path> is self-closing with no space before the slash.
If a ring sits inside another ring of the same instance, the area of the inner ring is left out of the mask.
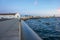
<path id="1" fill-rule="evenodd" d="M 0 40 L 42 40 L 23 20 L 0 20 Z"/>

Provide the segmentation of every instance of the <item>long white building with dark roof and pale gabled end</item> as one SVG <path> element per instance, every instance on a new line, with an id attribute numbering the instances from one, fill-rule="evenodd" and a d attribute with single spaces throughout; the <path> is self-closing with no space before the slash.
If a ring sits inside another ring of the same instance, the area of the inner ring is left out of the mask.
<path id="1" fill-rule="evenodd" d="M 20 18 L 19 13 L 0 13 L 0 19 L 2 18 Z"/>

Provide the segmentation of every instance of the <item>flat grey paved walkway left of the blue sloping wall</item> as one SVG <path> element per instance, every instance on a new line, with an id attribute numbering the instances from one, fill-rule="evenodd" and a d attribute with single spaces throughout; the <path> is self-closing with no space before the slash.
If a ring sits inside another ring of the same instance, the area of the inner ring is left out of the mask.
<path id="1" fill-rule="evenodd" d="M 21 40 L 19 28 L 20 22 L 17 19 L 0 22 L 0 40 Z"/>

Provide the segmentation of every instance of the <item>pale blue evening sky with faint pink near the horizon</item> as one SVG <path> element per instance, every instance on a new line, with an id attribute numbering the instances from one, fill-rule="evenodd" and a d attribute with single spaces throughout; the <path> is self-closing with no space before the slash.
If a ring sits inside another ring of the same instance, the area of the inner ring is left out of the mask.
<path id="1" fill-rule="evenodd" d="M 0 0 L 0 13 L 60 16 L 60 0 Z"/>

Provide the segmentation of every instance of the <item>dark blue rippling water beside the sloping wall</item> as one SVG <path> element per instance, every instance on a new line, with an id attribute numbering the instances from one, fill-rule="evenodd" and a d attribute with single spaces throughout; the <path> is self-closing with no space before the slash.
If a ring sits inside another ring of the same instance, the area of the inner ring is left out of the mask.
<path id="1" fill-rule="evenodd" d="M 60 40 L 60 18 L 29 19 L 25 22 L 44 40 Z"/>

